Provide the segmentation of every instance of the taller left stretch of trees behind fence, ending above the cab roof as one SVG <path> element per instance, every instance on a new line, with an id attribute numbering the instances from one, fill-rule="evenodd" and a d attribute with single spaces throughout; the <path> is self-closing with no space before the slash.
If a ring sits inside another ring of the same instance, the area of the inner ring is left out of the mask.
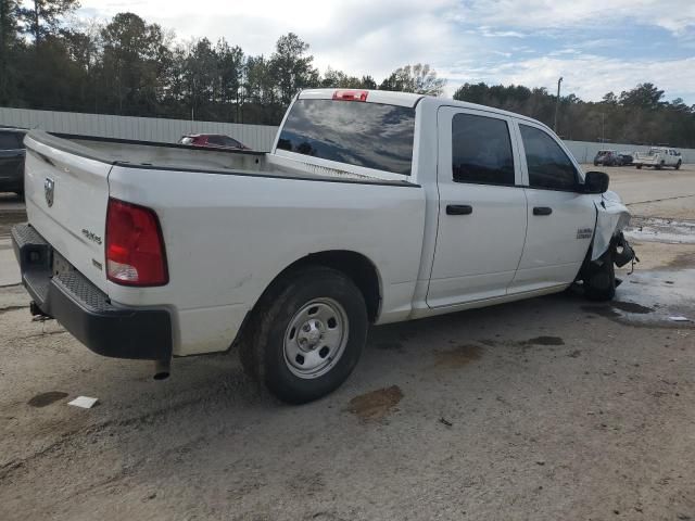
<path id="1" fill-rule="evenodd" d="M 181 42 L 134 13 L 105 23 L 61 23 L 76 0 L 0 0 L 0 105 L 118 115 L 277 125 L 299 89 L 419 89 L 444 80 L 407 65 L 381 84 L 314 66 L 308 43 L 289 33 L 269 55 L 220 38 Z"/>

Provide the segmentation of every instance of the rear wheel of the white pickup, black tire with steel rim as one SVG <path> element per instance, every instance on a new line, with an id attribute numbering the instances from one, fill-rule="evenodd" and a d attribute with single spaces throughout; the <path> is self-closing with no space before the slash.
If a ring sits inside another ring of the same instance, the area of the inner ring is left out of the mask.
<path id="1" fill-rule="evenodd" d="M 367 306 L 341 271 L 320 266 L 295 271 L 257 307 L 241 361 L 282 402 L 318 399 L 357 365 L 367 338 Z"/>

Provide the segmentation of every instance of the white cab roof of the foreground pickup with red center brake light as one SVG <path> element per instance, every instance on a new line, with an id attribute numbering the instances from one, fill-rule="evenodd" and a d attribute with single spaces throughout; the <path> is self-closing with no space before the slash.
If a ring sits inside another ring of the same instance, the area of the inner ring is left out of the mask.
<path id="1" fill-rule="evenodd" d="M 434 96 L 416 94 L 413 92 L 394 92 L 390 90 L 368 90 L 368 89 L 306 89 L 306 90 L 302 90 L 299 93 L 298 99 L 300 100 L 353 99 L 353 98 L 341 98 L 342 96 L 352 96 L 352 97 L 364 96 L 365 97 L 364 100 L 355 100 L 355 101 L 364 101 L 366 103 L 386 103 L 389 105 L 414 107 L 419 102 L 422 102 L 431 106 L 432 110 L 437 110 L 440 106 L 460 106 L 463 109 L 473 109 L 477 111 L 485 111 L 494 114 L 502 114 L 509 117 L 525 119 L 527 122 L 531 122 L 536 125 L 542 125 L 543 127 L 549 130 L 549 128 L 546 125 L 544 125 L 542 122 L 539 122 L 538 119 L 533 119 L 532 117 L 525 116 L 522 114 L 503 111 L 501 109 L 494 109 L 492 106 L 479 105 L 477 103 L 469 103 L 467 101 L 452 100 L 451 98 L 439 98 Z"/>

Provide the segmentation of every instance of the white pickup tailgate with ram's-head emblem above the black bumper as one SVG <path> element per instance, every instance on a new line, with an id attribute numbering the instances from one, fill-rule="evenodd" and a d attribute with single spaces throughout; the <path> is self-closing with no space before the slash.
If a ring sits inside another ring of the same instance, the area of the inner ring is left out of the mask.
<path id="1" fill-rule="evenodd" d="M 29 224 L 105 293 L 104 228 L 111 163 L 90 149 L 41 131 L 28 134 L 25 144 Z"/>

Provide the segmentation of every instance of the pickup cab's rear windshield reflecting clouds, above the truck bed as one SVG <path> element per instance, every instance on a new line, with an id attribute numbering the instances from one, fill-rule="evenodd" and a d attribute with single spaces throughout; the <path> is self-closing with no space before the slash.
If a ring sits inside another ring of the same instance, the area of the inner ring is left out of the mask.
<path id="1" fill-rule="evenodd" d="M 333 100 L 298 100 L 278 149 L 349 165 L 410 175 L 415 109 Z"/>

